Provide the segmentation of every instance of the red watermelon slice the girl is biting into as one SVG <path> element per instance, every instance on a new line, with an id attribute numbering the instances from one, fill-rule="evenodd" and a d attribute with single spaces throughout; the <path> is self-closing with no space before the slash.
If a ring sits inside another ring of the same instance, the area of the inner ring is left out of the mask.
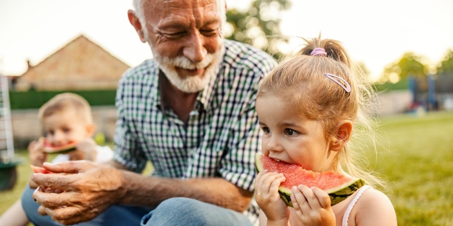
<path id="1" fill-rule="evenodd" d="M 335 205 L 343 201 L 365 184 L 362 179 L 348 177 L 333 171 L 325 171 L 321 173 L 314 172 L 306 170 L 297 164 L 289 164 L 281 161 L 277 162 L 274 159 L 262 154 L 256 154 L 255 159 L 257 172 L 267 169 L 269 172 L 283 173 L 286 180 L 280 184 L 278 193 L 280 193 L 280 196 L 286 205 L 291 207 L 291 188 L 299 184 L 304 184 L 308 187 L 315 186 L 323 189 L 329 194 L 331 205 Z"/>

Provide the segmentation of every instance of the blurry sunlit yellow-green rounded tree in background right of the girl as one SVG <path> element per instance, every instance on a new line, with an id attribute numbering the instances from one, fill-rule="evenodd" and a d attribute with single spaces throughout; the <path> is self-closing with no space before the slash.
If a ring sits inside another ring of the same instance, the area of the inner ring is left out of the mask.
<path id="1" fill-rule="evenodd" d="M 422 63 L 422 58 L 412 52 L 405 53 L 401 59 L 389 64 L 384 69 L 384 81 L 392 79 L 392 74 L 398 75 L 398 79 L 406 79 L 408 76 L 426 77 L 428 67 Z"/>

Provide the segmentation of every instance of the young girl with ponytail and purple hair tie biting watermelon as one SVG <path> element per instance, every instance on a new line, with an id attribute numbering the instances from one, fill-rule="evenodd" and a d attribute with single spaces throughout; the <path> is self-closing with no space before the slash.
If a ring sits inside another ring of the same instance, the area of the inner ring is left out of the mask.
<path id="1" fill-rule="evenodd" d="M 354 150 L 349 141 L 353 129 L 356 139 L 356 124 L 361 130 L 372 128 L 365 112 L 370 109 L 372 89 L 351 69 L 338 41 L 306 41 L 296 56 L 264 78 L 258 90 L 263 154 L 308 170 L 349 174 L 368 185 L 334 206 L 320 188 L 294 186 L 294 208 L 290 208 L 278 193 L 283 175 L 261 171 L 255 184 L 256 201 L 267 218 L 260 217 L 261 224 L 267 220 L 267 225 L 397 225 L 389 198 L 370 186 L 382 183 L 351 158 Z"/>

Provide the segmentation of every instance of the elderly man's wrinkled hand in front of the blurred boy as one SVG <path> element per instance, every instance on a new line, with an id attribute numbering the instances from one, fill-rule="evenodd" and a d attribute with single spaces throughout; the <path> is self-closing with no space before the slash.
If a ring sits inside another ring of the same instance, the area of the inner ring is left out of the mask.
<path id="1" fill-rule="evenodd" d="M 37 189 L 33 198 L 41 204 L 39 213 L 62 224 L 91 220 L 119 202 L 126 193 L 122 173 L 111 166 L 88 161 L 44 163 L 43 166 L 52 173 L 35 173 L 31 180 L 39 186 L 63 192 L 46 193 Z"/>

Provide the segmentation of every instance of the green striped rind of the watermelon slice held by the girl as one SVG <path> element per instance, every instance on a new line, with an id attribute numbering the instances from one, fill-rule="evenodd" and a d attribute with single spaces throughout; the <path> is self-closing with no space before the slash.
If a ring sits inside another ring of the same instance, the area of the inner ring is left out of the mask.
<path id="1" fill-rule="evenodd" d="M 262 156 L 263 156 L 262 154 L 256 154 L 255 156 L 255 167 L 257 172 L 264 170 L 263 164 L 260 160 Z M 363 181 L 362 179 L 356 179 L 325 191 L 329 194 L 330 202 L 331 205 L 333 206 L 348 198 L 351 194 L 353 194 L 363 185 L 365 185 L 365 181 Z M 280 186 L 278 188 L 278 193 L 280 194 L 281 199 L 283 199 L 287 206 L 293 207 L 290 197 L 292 194 L 291 188 Z"/>

